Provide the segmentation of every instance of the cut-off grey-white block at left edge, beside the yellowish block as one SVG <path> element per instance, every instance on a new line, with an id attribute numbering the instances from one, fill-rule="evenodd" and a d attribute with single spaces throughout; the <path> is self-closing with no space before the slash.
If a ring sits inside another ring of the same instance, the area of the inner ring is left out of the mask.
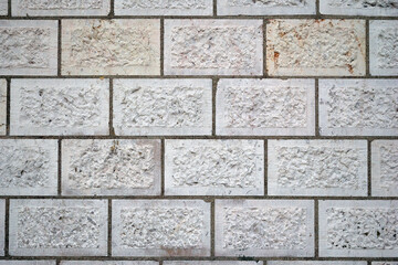
<path id="1" fill-rule="evenodd" d="M 57 21 L 1 20 L 0 75 L 56 75 Z"/>

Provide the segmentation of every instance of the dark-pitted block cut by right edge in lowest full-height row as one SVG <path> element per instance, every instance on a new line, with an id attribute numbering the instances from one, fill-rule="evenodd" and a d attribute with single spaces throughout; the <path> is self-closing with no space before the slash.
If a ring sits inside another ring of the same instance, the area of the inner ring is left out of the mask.
<path id="1" fill-rule="evenodd" d="M 396 257 L 398 201 L 320 201 L 320 256 Z"/>

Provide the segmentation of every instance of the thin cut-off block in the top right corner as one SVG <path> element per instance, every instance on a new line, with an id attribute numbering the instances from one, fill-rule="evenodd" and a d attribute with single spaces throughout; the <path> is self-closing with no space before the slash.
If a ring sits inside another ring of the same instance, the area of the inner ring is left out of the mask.
<path id="1" fill-rule="evenodd" d="M 324 14 L 344 15 L 398 15 L 397 0 L 321 0 Z"/>

